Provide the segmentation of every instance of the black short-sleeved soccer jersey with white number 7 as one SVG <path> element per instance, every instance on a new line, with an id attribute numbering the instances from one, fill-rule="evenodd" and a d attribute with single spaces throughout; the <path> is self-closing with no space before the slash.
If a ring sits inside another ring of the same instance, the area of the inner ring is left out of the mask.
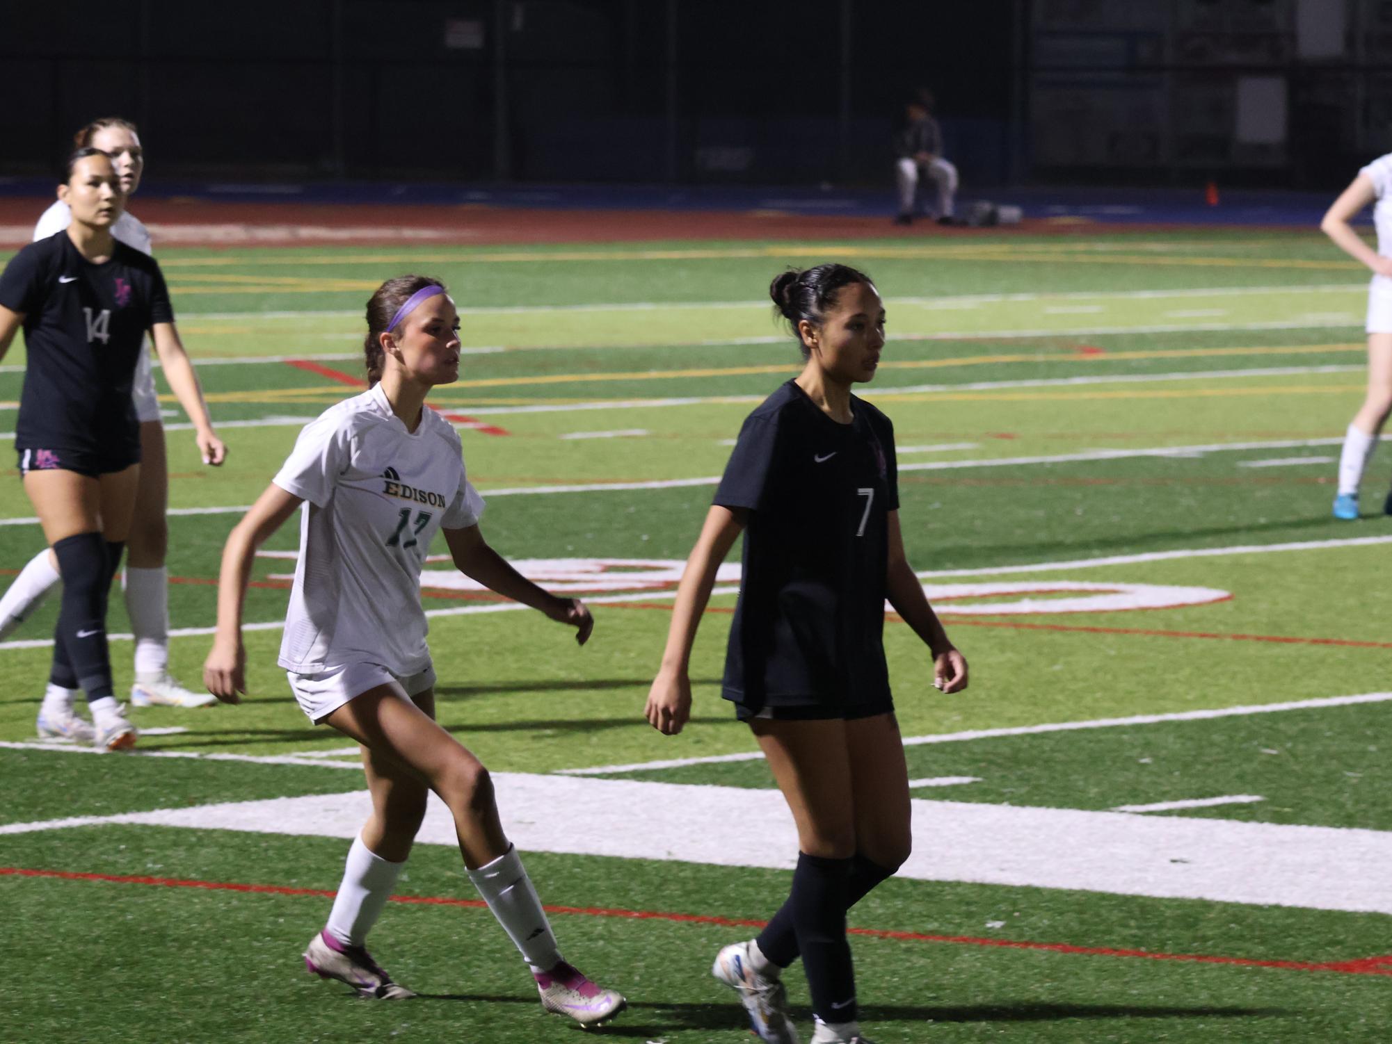
<path id="1" fill-rule="evenodd" d="M 715 503 L 748 507 L 724 696 L 749 709 L 889 701 L 884 660 L 894 425 L 838 424 L 788 381 L 745 420 Z"/>

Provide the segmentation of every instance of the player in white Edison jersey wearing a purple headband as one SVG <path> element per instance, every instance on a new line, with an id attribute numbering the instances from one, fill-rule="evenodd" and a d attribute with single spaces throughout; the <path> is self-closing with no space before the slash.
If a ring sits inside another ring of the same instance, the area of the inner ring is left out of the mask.
<path id="1" fill-rule="evenodd" d="M 312 721 L 363 747 L 373 812 L 348 852 L 342 884 L 305 951 L 309 970 L 365 997 L 413 995 L 367 954 L 376 922 L 411 852 L 433 790 L 454 815 L 459 851 L 489 909 L 522 952 L 541 1006 L 593 1025 L 626 1005 L 561 959 L 516 849 L 498 820 L 487 770 L 434 721 L 434 680 L 420 606 L 426 549 L 444 531 L 465 574 L 575 627 L 593 620 L 512 569 L 479 532 L 459 435 L 425 399 L 459 378 L 459 316 L 444 285 L 384 282 L 367 302 L 369 391 L 308 424 L 294 452 L 223 552 L 217 637 L 203 681 L 219 699 L 245 691 L 241 620 L 256 549 L 303 505 L 299 562 L 280 666 Z"/>

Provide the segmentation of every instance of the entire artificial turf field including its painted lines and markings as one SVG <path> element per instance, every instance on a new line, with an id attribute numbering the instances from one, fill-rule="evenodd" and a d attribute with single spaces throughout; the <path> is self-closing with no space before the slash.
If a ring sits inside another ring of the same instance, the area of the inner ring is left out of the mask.
<path id="1" fill-rule="evenodd" d="M 498 774 L 504 820 L 564 908 L 567 955 L 628 994 L 606 1036 L 746 1038 L 709 966 L 753 934 L 731 922 L 775 909 L 795 841 L 718 698 L 731 594 L 697 641 L 692 724 L 664 738 L 640 715 L 729 441 L 798 368 L 764 288 L 784 266 L 832 259 L 885 295 L 889 345 L 864 393 L 895 423 L 910 560 L 972 664 L 970 690 L 942 696 L 922 645 L 887 623 L 917 802 L 913 858 L 851 913 L 866 1031 L 878 1044 L 1392 1031 L 1392 595 L 1374 580 L 1392 544 L 1388 466 L 1374 457 L 1363 520 L 1329 517 L 1361 399 L 1366 279 L 1322 238 L 160 259 L 231 448 L 224 468 L 200 466 L 171 413 L 173 666 L 189 683 L 235 509 L 299 425 L 354 393 L 362 302 L 405 271 L 451 286 L 468 354 L 433 402 L 464 427 L 483 531 L 590 601 L 597 628 L 576 649 L 432 563 L 438 713 Z M 0 371 L 6 431 L 22 354 Z M 10 489 L 0 566 L 13 573 L 40 538 Z M 132 756 L 33 740 L 57 599 L 0 644 L 7 1040 L 575 1038 L 541 1015 L 491 917 L 459 905 L 475 894 L 434 815 L 372 937 L 423 998 L 358 1002 L 303 973 L 362 780 L 274 663 L 296 538 L 287 525 L 267 545 L 283 555 L 256 569 L 249 698 L 138 712 L 152 733 Z M 111 630 L 125 630 L 118 598 Z M 113 642 L 118 685 L 129 648 Z M 796 969 L 788 981 L 810 1026 Z"/>

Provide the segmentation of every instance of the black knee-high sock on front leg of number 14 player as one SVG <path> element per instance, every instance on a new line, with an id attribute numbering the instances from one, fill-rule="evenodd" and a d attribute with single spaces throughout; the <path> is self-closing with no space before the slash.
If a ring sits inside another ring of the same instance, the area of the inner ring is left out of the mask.
<path id="1" fill-rule="evenodd" d="M 58 609 L 50 678 L 54 684 L 71 678 L 86 694 L 89 703 L 113 695 L 106 596 L 114 570 L 107 549 L 99 532 L 79 532 L 53 545 L 63 574 L 63 606 Z M 72 688 L 72 684 L 65 687 Z"/>

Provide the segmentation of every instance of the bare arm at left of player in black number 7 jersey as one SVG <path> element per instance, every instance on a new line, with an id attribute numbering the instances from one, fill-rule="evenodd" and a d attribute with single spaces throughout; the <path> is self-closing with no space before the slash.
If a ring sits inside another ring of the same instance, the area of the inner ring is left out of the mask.
<path id="1" fill-rule="evenodd" d="M 647 723 L 664 735 L 677 735 L 690 717 L 692 684 L 688 671 L 696 628 L 710 602 L 715 571 L 743 532 L 748 514 L 745 510 L 713 506 L 706 513 L 706 524 L 686 559 L 686 569 L 677 588 L 677 603 L 672 606 L 663 666 L 653 680 L 647 706 L 643 709 Z"/>

